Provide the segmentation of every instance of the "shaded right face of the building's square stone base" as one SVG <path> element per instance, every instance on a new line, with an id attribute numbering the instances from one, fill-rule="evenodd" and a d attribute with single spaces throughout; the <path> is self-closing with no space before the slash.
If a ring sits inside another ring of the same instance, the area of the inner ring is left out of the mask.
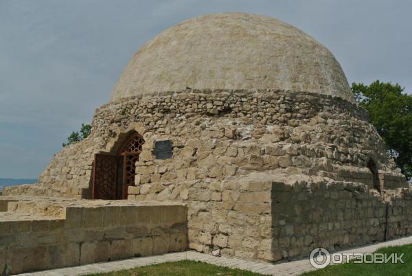
<path id="1" fill-rule="evenodd" d="M 385 200 L 362 183 L 273 183 L 273 259 L 309 255 L 412 234 L 412 189 Z"/>

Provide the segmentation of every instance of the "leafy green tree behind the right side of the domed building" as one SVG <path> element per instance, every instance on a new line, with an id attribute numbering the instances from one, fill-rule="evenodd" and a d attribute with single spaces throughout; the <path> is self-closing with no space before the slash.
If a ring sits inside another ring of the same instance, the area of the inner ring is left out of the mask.
<path id="1" fill-rule="evenodd" d="M 356 102 L 367 111 L 371 124 L 407 179 L 412 180 L 412 95 L 391 82 L 376 80 L 369 86 L 353 83 Z"/>

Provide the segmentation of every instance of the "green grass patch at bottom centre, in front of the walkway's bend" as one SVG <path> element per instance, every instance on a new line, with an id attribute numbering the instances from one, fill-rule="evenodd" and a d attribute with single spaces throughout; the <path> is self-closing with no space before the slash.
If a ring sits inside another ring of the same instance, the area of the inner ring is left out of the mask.
<path id="1" fill-rule="evenodd" d="M 165 262 L 128 269 L 126 271 L 115 271 L 111 273 L 89 274 L 88 276 L 195 276 L 195 275 L 220 275 L 220 276 L 258 276 L 262 274 L 231 269 L 204 262 L 179 261 Z"/>

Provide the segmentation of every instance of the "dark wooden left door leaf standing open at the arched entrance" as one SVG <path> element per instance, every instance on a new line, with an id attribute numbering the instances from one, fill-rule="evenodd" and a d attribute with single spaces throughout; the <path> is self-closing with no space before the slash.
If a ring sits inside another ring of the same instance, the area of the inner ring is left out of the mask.
<path id="1" fill-rule="evenodd" d="M 92 199 L 117 199 L 117 157 L 95 154 Z"/>

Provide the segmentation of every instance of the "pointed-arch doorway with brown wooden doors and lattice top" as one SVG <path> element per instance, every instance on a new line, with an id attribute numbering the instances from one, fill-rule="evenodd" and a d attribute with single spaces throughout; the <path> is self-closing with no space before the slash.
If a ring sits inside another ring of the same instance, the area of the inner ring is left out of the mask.
<path id="1" fill-rule="evenodd" d="M 144 139 L 139 133 L 130 135 L 117 154 L 95 154 L 93 163 L 92 199 L 126 199 L 128 186 L 135 183 L 136 166 Z"/>

